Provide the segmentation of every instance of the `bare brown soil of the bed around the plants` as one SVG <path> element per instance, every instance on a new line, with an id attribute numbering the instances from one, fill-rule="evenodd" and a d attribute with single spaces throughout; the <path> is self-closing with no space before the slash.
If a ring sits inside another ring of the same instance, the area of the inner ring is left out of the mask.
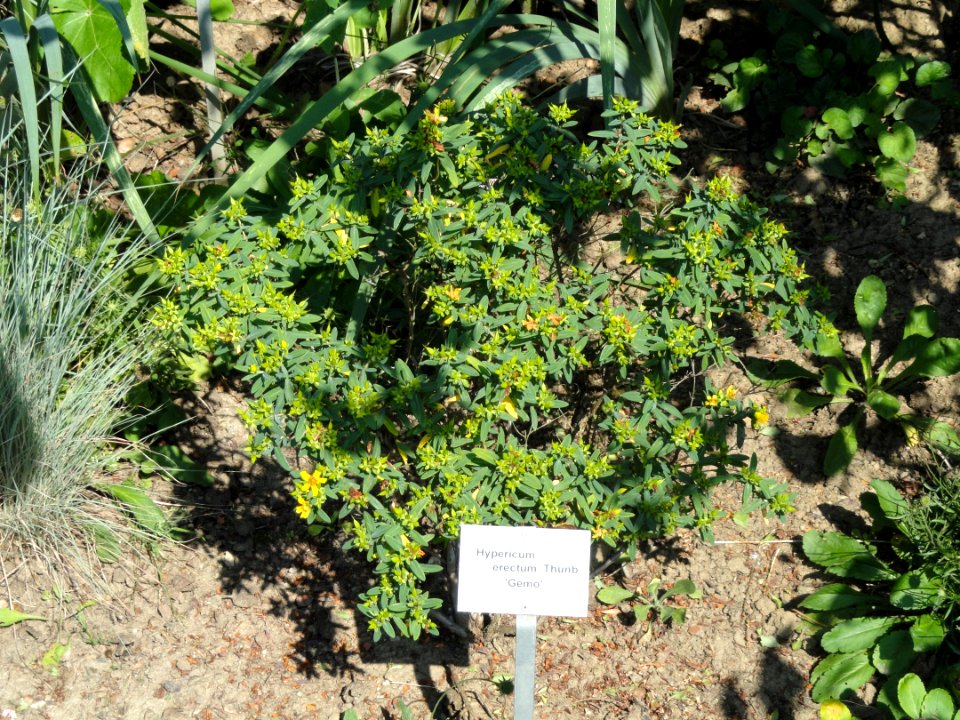
<path id="1" fill-rule="evenodd" d="M 841 9 L 863 16 L 848 5 Z M 238 7 L 251 18 L 290 10 Z M 958 19 L 941 10 L 891 4 L 888 34 L 918 51 L 945 52 L 944 28 L 955 29 Z M 696 4 L 688 15 L 685 34 L 702 39 L 736 13 Z M 257 47 L 269 38 L 244 42 Z M 137 150 L 137 169 L 176 176 L 189 165 L 190 146 L 171 134 L 196 126 L 198 116 L 185 108 L 198 98 L 195 88 L 157 81 L 121 112 L 118 136 Z M 783 198 L 772 210 L 793 228 L 808 270 L 831 286 L 841 324 L 849 321 L 853 288 L 872 272 L 887 281 L 892 305 L 929 302 L 940 311 L 942 332 L 960 336 L 960 118 L 947 114 L 921 143 L 907 204 L 883 208 L 865 182 L 839 184 L 809 170 L 766 175 L 763 147 L 749 128 L 718 122 L 714 109 L 715 100 L 694 87 L 684 118 L 689 168 L 727 172 L 758 198 Z M 156 141 L 138 145 L 150 138 Z M 754 339 L 747 351 L 801 359 L 776 337 Z M 770 403 L 779 432 L 748 438 L 747 450 L 758 454 L 761 473 L 789 483 L 796 512 L 782 523 L 754 519 L 746 528 L 724 519 L 715 527 L 716 544 L 680 534 L 602 575 L 640 589 L 654 578 L 691 578 L 703 598 L 686 603 L 681 625 L 631 622 L 629 607 L 595 602 L 585 619 L 541 619 L 538 717 L 817 716 L 806 686 L 817 648 L 802 632 L 796 600 L 822 580 L 804 562 L 799 538 L 810 529 L 848 526 L 872 478 L 915 482 L 923 457 L 904 447 L 896 429 L 880 428 L 849 471 L 827 481 L 821 458 L 836 417 L 824 410 L 787 421 L 737 368 L 723 373 L 741 393 Z M 956 422 L 958 392 L 955 380 L 931 382 L 910 403 Z M 400 717 L 402 701 L 415 718 L 511 717 L 513 700 L 502 682 L 513 673 L 510 618 L 478 620 L 469 641 L 442 631 L 416 643 L 372 643 L 351 607 L 366 569 L 339 551 L 337 538 L 307 536 L 283 473 L 250 467 L 239 402 L 230 388 L 210 387 L 186 403 L 194 419 L 183 443 L 216 482 L 208 490 L 170 487 L 168 494 L 187 508 L 184 524 L 197 539 L 163 548 L 153 563 L 112 566 L 111 597 L 83 609 L 90 598 L 51 598 L 52 588 L 36 586 L 29 568 L 4 565 L 17 607 L 65 617 L 0 630 L 0 711 L 28 720 L 298 720 L 338 718 L 355 708 L 372 719 Z M 721 495 L 732 515 L 737 497 Z M 43 662 L 57 643 L 68 646 L 66 654 Z"/>

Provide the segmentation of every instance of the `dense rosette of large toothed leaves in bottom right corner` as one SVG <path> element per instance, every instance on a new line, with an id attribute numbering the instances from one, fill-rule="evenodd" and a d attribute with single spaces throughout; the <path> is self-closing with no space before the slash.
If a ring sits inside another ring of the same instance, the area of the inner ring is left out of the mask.
<path id="1" fill-rule="evenodd" d="M 872 519 L 867 532 L 803 537 L 807 558 L 846 581 L 800 602 L 807 620 L 822 629 L 820 646 L 828 653 L 813 669 L 811 695 L 817 702 L 846 698 L 880 675 L 877 705 L 894 717 L 920 717 L 898 700 L 898 684 L 923 668 L 936 670 L 934 685 L 949 687 L 956 676 L 960 658 L 949 639 L 958 599 L 949 579 L 954 563 L 925 557 L 911 520 L 916 510 L 890 483 L 871 485 L 874 492 L 861 498 Z"/>

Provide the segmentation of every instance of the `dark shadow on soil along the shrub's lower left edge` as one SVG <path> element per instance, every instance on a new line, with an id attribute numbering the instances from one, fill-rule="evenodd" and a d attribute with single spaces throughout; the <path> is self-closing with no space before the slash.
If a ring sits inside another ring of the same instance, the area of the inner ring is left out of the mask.
<path id="1" fill-rule="evenodd" d="M 285 664 L 305 678 L 342 678 L 345 704 L 351 701 L 351 682 L 365 672 L 359 663 L 412 665 L 434 717 L 450 717 L 431 668 L 441 666 L 449 676 L 450 666 L 465 666 L 465 643 L 443 631 L 419 642 L 373 643 L 366 618 L 351 609 L 373 583 L 370 569 L 342 549 L 343 538 L 309 535 L 293 512 L 289 476 L 277 464 L 260 460 L 250 466 L 235 395 L 211 388 L 195 402 L 204 411 L 191 413 L 197 419 L 181 444 L 217 480 L 206 489 L 183 486 L 179 499 L 194 508 L 183 524 L 217 559 L 223 594 L 235 608 L 261 608 L 286 618 L 294 640 Z"/>

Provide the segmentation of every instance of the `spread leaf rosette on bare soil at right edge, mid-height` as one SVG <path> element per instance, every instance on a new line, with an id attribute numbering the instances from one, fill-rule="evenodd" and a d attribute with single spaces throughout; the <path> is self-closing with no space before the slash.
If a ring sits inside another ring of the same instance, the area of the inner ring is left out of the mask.
<path id="1" fill-rule="evenodd" d="M 941 451 L 956 453 L 960 439 L 946 422 L 904 412 L 901 397 L 928 378 L 948 377 L 960 371 L 960 340 L 937 337 L 939 315 L 930 305 L 919 305 L 907 315 L 903 335 L 884 361 L 874 357 L 874 333 L 887 306 L 887 288 L 875 275 L 857 287 L 853 299 L 863 349 L 853 362 L 840 342 L 836 327 L 822 319 L 813 343 L 814 354 L 823 360 L 817 371 L 790 360 L 751 360 L 751 378 L 768 387 L 796 384 L 782 394 L 790 417 L 802 417 L 831 403 L 854 406 L 852 417 L 834 433 L 827 446 L 823 471 L 842 472 L 859 448 L 858 433 L 869 409 L 879 418 L 899 424 L 908 442 L 924 441 Z M 804 386 L 814 385 L 806 390 Z"/>

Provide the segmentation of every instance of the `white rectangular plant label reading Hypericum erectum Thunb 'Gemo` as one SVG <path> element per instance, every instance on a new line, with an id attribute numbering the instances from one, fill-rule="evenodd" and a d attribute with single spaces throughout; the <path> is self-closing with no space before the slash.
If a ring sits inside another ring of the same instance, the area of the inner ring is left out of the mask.
<path id="1" fill-rule="evenodd" d="M 590 531 L 460 526 L 458 612 L 586 617 Z"/>

